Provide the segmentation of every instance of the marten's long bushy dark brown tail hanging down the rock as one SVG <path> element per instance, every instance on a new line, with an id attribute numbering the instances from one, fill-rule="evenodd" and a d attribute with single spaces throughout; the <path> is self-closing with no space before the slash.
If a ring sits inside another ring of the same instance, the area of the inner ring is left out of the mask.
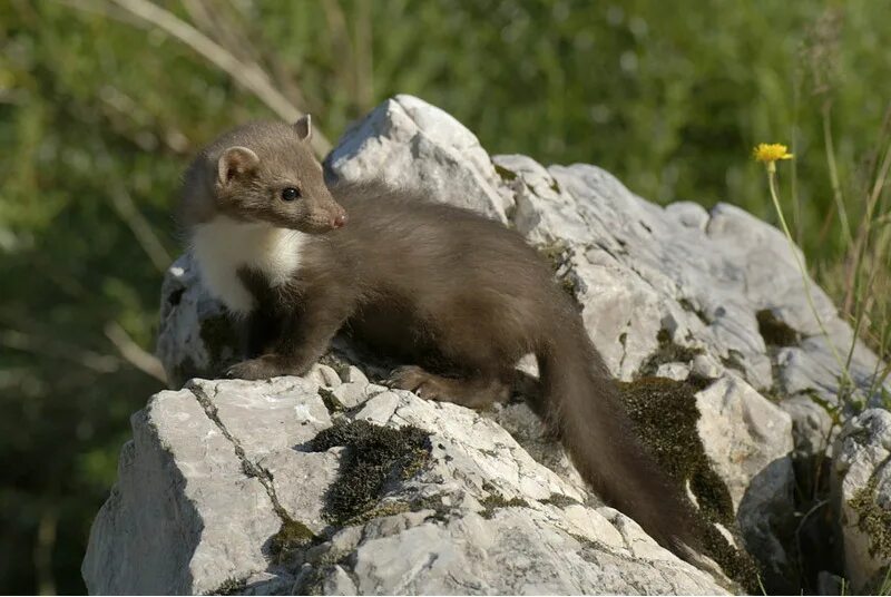
<path id="1" fill-rule="evenodd" d="M 581 322 L 565 321 L 538 351 L 544 412 L 581 477 L 659 545 L 699 550 L 692 506 L 635 434 L 615 383 Z"/>

